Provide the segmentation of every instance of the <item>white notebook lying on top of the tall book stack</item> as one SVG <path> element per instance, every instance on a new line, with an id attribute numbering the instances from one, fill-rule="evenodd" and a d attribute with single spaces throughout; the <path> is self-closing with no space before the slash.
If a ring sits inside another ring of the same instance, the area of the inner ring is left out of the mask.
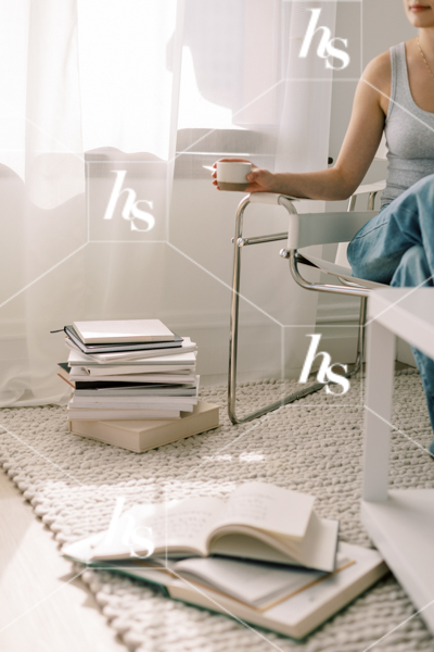
<path id="1" fill-rule="evenodd" d="M 171 330 L 159 319 L 115 319 L 74 322 L 74 328 L 85 344 L 168 342 Z"/>

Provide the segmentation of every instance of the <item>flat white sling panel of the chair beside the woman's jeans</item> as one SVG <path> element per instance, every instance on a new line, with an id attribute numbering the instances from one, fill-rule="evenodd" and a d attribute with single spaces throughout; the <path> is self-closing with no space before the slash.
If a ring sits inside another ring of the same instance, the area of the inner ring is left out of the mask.
<path id="1" fill-rule="evenodd" d="M 288 249 L 348 242 L 378 211 L 290 214 Z"/>

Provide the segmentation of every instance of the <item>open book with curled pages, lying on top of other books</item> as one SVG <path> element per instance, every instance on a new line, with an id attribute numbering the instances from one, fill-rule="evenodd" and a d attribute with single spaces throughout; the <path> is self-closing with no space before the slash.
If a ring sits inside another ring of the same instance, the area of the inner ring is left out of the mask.
<path id="1" fill-rule="evenodd" d="M 224 555 L 335 568 L 339 522 L 314 512 L 314 497 L 264 482 L 238 487 L 227 501 L 188 498 L 136 505 L 108 530 L 68 546 L 87 562 Z"/>

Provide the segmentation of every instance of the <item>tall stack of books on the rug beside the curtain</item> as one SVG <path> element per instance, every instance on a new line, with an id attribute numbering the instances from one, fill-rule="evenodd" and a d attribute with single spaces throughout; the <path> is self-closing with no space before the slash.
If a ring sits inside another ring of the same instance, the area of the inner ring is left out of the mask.
<path id="1" fill-rule="evenodd" d="M 218 406 L 199 401 L 196 344 L 190 338 L 159 319 L 75 322 L 64 330 L 69 355 L 59 375 L 74 388 L 71 431 L 142 451 L 161 446 L 162 437 L 174 441 L 218 425 Z M 174 428 L 174 421 L 184 423 Z M 107 431 L 101 422 L 118 424 Z M 149 446 L 155 428 L 159 443 Z"/>

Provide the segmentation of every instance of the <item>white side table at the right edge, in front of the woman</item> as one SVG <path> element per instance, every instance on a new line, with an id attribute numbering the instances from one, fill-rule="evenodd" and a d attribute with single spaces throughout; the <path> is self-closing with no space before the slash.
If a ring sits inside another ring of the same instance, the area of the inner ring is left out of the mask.
<path id="1" fill-rule="evenodd" d="M 361 500 L 370 538 L 434 634 L 434 489 L 388 490 L 396 337 L 434 359 L 434 288 L 370 294 Z"/>

